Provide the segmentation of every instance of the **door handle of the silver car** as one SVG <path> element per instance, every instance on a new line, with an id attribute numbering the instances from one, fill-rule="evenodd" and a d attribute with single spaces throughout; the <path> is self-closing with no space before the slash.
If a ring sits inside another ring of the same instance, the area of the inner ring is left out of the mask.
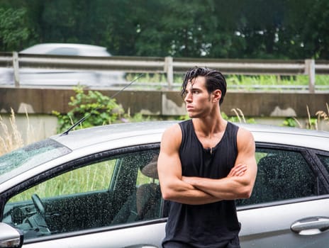
<path id="1" fill-rule="evenodd" d="M 329 230 L 329 218 L 311 217 L 297 220 L 290 228 L 299 235 L 317 235 Z"/>

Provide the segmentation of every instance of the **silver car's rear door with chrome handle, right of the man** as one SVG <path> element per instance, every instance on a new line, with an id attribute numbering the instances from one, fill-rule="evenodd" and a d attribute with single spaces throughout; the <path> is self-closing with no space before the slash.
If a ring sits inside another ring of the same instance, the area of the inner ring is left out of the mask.
<path id="1" fill-rule="evenodd" d="M 328 181 L 314 157 L 312 150 L 257 144 L 252 197 L 237 201 L 241 247 L 328 246 Z"/>

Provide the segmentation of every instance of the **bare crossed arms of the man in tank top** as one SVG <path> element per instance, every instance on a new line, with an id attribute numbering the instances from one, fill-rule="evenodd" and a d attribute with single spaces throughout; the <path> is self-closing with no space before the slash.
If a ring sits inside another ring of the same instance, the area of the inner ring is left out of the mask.
<path id="1" fill-rule="evenodd" d="M 162 136 L 157 169 L 165 200 L 199 205 L 250 197 L 255 184 L 257 164 L 255 142 L 249 131 L 239 128 L 238 157 L 233 169 L 223 179 L 182 176 L 179 159 L 181 142 L 179 125 L 172 126 Z"/>

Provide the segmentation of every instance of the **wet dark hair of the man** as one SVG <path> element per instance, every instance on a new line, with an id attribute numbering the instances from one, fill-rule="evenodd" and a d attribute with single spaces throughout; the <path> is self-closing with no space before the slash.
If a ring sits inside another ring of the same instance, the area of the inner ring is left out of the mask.
<path id="1" fill-rule="evenodd" d="M 219 105 L 221 105 L 226 94 L 225 77 L 223 76 L 223 74 L 221 74 L 221 72 L 218 72 L 215 69 L 208 69 L 206 67 L 194 67 L 186 72 L 181 89 L 182 98 L 184 98 L 187 84 L 189 83 L 189 81 L 195 79 L 196 77 L 206 78 L 206 89 L 209 94 L 211 94 L 211 92 L 215 91 L 216 89 L 221 90 L 222 96 L 221 100 L 219 101 Z"/>

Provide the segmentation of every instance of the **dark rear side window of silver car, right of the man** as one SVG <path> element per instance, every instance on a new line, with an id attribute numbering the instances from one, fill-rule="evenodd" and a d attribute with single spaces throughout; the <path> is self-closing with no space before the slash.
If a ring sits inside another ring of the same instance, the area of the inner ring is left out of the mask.
<path id="1" fill-rule="evenodd" d="M 237 205 L 316 196 L 316 176 L 301 152 L 257 148 L 257 178 L 249 199 Z"/>

